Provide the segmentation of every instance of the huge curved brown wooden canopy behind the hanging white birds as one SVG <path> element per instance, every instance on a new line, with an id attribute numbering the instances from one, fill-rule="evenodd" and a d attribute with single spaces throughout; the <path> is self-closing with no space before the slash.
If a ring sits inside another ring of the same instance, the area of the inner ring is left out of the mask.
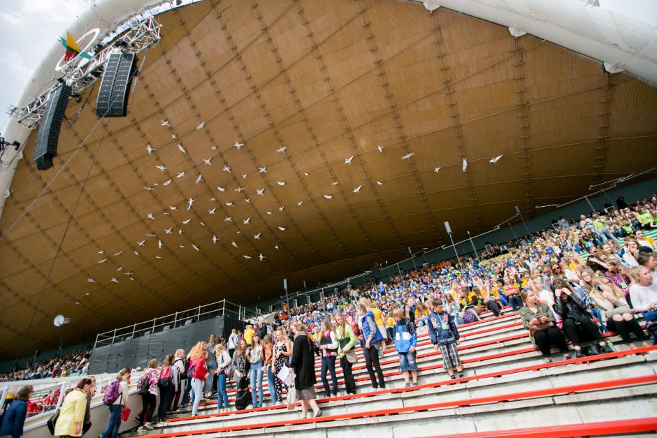
<path id="1" fill-rule="evenodd" d="M 222 0 L 159 21 L 128 117 L 99 121 L 96 86 L 69 103 L 55 167 L 17 170 L 0 222 L 24 214 L 0 242 L 6 356 L 36 305 L 27 349 L 57 345 L 60 313 L 65 342 L 91 340 L 363 272 L 447 242 L 443 221 L 463 238 L 657 165 L 655 87 L 452 10 Z"/>

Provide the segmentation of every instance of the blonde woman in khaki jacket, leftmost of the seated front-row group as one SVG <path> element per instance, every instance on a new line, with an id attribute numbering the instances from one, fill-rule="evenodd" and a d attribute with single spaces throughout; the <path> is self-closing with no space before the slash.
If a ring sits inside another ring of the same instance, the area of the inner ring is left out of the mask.
<path id="1" fill-rule="evenodd" d="M 547 304 L 540 302 L 533 291 L 522 291 L 520 294 L 524 306 L 519 310 L 524 328 L 529 330 L 532 341 L 540 349 L 543 361 L 550 363 L 552 353 L 550 346 L 554 344 L 563 353 L 565 360 L 570 359 L 568 346 L 563 333 L 556 326 L 552 310 Z"/>

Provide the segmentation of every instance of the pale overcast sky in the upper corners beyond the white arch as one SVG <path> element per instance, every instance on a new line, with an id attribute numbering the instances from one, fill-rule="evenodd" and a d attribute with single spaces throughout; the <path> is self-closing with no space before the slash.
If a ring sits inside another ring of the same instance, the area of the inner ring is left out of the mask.
<path id="1" fill-rule="evenodd" d="M 0 129 L 45 53 L 92 0 L 0 1 Z M 547 0 L 546 0 L 547 1 Z M 571 0 L 583 1 L 583 0 Z M 604 8 L 657 26 L 657 0 L 599 0 Z M 64 48 L 62 48 L 64 54 Z"/>

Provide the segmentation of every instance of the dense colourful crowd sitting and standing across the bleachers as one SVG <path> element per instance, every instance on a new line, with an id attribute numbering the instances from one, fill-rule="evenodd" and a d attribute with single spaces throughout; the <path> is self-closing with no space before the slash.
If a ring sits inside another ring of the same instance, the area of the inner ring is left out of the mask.
<path id="1" fill-rule="evenodd" d="M 617 203 L 617 208 L 579 219 L 562 217 L 549 229 L 505 247 L 490 247 L 486 257 L 397 272 L 387 282 L 285 307 L 275 312 L 273 323 L 232 330 L 227 339 L 210 335 L 189 353 L 175 351 L 161 363 L 152 359 L 138 380 L 143 409 L 135 421 L 151 430 L 156 408 L 157 419 L 164 421 L 187 404 L 196 416 L 201 400 L 215 393 L 219 411 L 227 411 L 229 381 L 236 384 L 236 409 L 262 407 L 265 375 L 273 404 L 283 402 L 285 392 L 288 401 L 301 400 L 303 418 L 309 409 L 313 416 L 322 416 L 315 402 L 315 358 L 321 363 L 324 397 L 335 397 L 340 390 L 336 362 L 345 393 L 355 394 L 351 370 L 357 347 L 363 349 L 372 388 L 386 387 L 379 358 L 389 348 L 398 354 L 405 385 L 416 386 L 416 330 L 423 326 L 449 376 L 461 378 L 458 326 L 478 321 L 485 311 L 499 316 L 507 307 L 519 312 L 545 362 L 553 360 L 551 346 L 565 359 L 608 353 L 613 346 L 602 335 L 609 331 L 618 333 L 628 348 L 639 342 L 647 345 L 651 332 L 640 326 L 635 314 L 642 313 L 648 323 L 657 321 L 656 247 L 645 234 L 657 228 L 657 194 L 634 205 L 622 198 Z M 117 375 L 126 393 L 130 374 L 124 368 Z M 78 389 L 88 391 L 84 381 Z M 110 404 L 112 415 L 103 438 L 117 436 L 126 398 Z M 67 432 L 80 431 L 78 418 Z"/>

